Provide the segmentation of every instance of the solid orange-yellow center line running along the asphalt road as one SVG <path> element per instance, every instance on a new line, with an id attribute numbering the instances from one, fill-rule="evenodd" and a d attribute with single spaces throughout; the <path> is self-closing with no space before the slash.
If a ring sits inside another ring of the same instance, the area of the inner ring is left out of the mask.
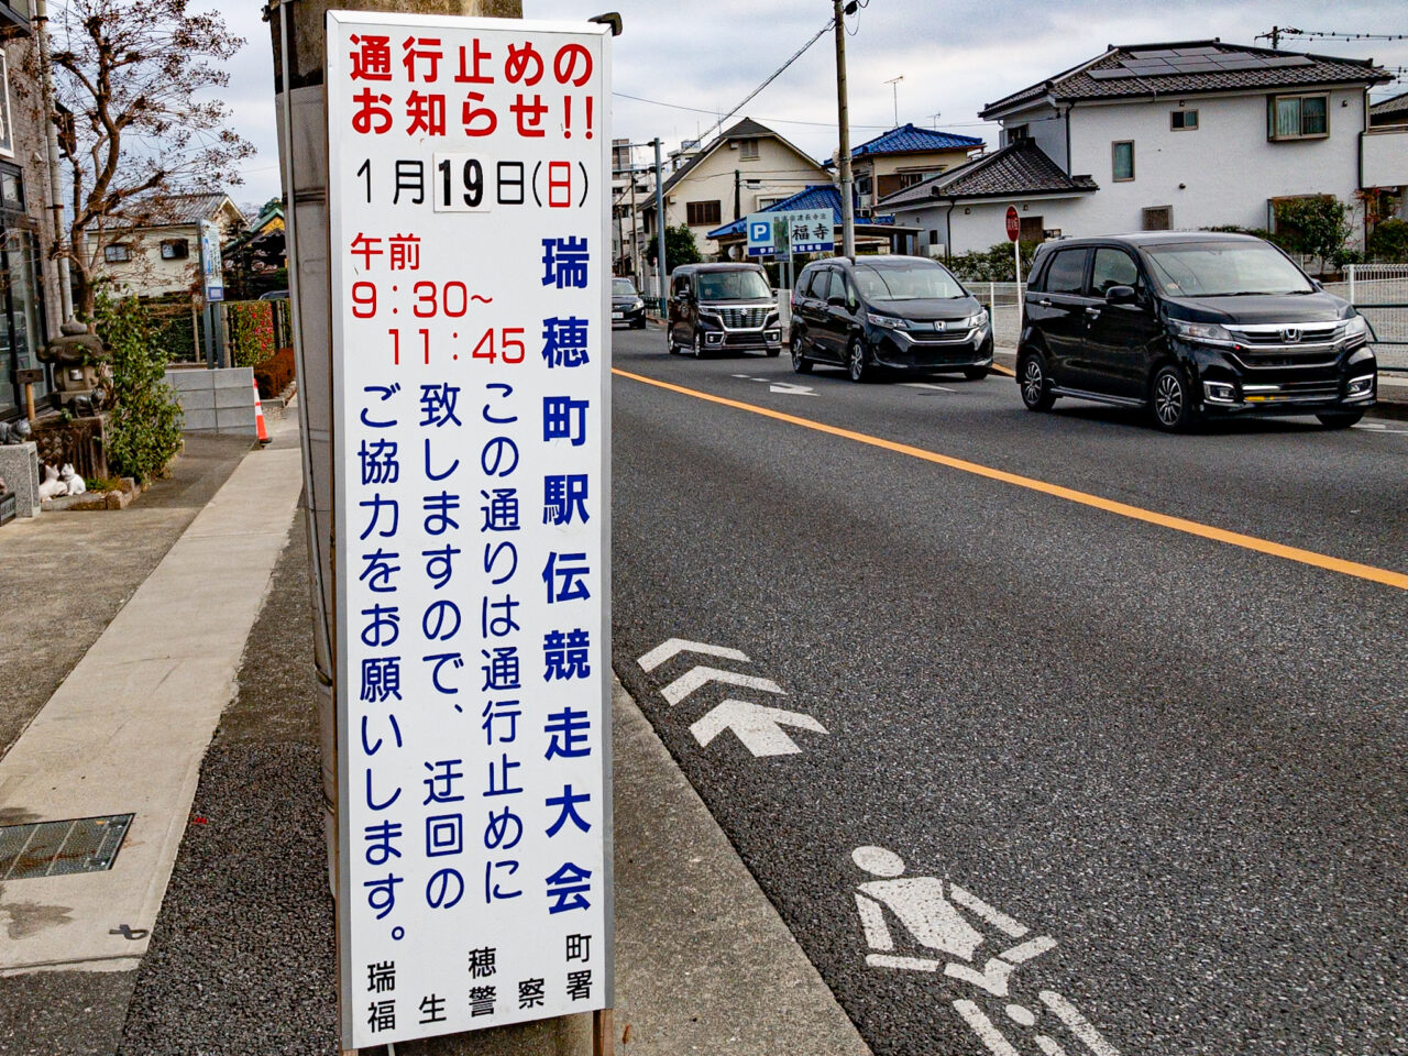
<path id="1" fill-rule="evenodd" d="M 1138 505 L 1129 505 L 1128 503 L 1117 503 L 1111 498 L 1102 498 L 1101 496 L 1093 496 L 1086 491 L 1077 491 L 1071 487 L 1062 487 L 1060 484 L 1050 484 L 1045 480 L 1036 480 L 1035 477 L 1024 477 L 1018 473 L 1008 473 L 1001 469 L 993 469 L 991 466 L 984 466 L 977 462 L 967 462 L 964 459 L 956 459 L 950 455 L 939 455 L 935 451 L 925 451 L 924 448 L 915 448 L 908 444 L 897 444 L 895 441 L 888 441 L 881 436 L 872 436 L 865 432 L 853 432 L 852 429 L 842 429 L 838 425 L 828 425 L 826 422 L 814 421 L 812 418 L 800 418 L 796 414 L 784 414 L 783 411 L 774 411 L 769 407 L 759 407 L 758 404 L 743 403 L 742 400 L 729 400 L 724 396 L 714 396 L 712 393 L 704 393 L 697 389 L 686 389 L 684 386 L 672 384 L 669 382 L 660 382 L 653 377 L 646 377 L 643 375 L 634 375 L 628 370 L 611 369 L 612 375 L 620 377 L 627 377 L 632 382 L 641 382 L 642 384 L 655 386 L 656 389 L 665 389 L 672 393 L 679 393 L 680 396 L 693 396 L 696 400 L 705 400 L 708 403 L 717 403 L 721 407 L 732 407 L 738 411 L 748 411 L 749 414 L 758 414 L 763 418 L 773 418 L 774 421 L 787 422 L 788 425 L 800 425 L 804 429 L 815 429 L 817 432 L 825 432 L 831 436 L 841 436 L 842 439 L 855 441 L 856 444 L 865 444 L 872 448 L 880 448 L 881 451 L 891 451 L 897 455 L 908 455 L 910 458 L 921 459 L 924 462 L 934 462 L 939 466 L 948 466 L 949 469 L 957 469 L 963 473 L 973 473 L 974 476 L 987 477 L 988 480 L 1000 480 L 1004 484 L 1012 484 L 1015 487 L 1025 487 L 1031 491 L 1041 491 L 1042 494 L 1053 496 L 1055 498 L 1064 498 L 1069 503 L 1079 503 L 1081 505 L 1094 507 L 1095 510 L 1104 510 L 1105 513 L 1118 514 L 1119 517 L 1128 517 L 1132 521 L 1143 521 L 1145 524 L 1156 524 L 1162 528 L 1170 528 L 1176 532 L 1186 532 L 1187 535 L 1197 535 L 1202 539 L 1214 539 L 1217 542 L 1225 542 L 1231 546 L 1240 546 L 1242 549 L 1256 551 L 1257 553 L 1269 553 L 1273 558 L 1283 558 L 1286 560 L 1294 560 L 1300 565 L 1309 565 L 1316 569 L 1325 569 L 1328 572 L 1338 572 L 1343 576 L 1353 576 L 1356 579 L 1366 579 L 1373 583 L 1383 583 L 1390 587 L 1398 587 L 1400 590 L 1408 590 L 1408 574 L 1401 572 L 1393 572 L 1390 569 L 1380 569 L 1373 565 L 1360 565 L 1359 562 L 1345 560 L 1343 558 L 1331 558 L 1325 553 L 1316 553 L 1315 551 L 1302 551 L 1300 546 L 1286 546 L 1284 543 L 1271 542 L 1270 539 L 1260 539 L 1255 535 L 1243 535 L 1242 532 L 1229 532 L 1225 528 L 1214 528 L 1208 524 L 1200 524 L 1198 521 L 1188 521 L 1183 517 L 1170 517 L 1169 514 L 1155 513 L 1153 510 L 1145 510 Z"/>

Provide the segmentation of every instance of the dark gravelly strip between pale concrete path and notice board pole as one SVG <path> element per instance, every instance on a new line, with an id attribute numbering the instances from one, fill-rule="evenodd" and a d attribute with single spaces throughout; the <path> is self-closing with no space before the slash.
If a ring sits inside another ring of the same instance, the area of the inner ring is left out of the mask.
<path id="1" fill-rule="evenodd" d="M 122 1056 L 337 1052 L 303 514 L 206 756 Z"/>

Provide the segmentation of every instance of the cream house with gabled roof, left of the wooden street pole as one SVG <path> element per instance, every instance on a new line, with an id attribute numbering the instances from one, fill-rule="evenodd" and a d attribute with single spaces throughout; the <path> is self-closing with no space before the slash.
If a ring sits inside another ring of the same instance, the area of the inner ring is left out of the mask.
<path id="1" fill-rule="evenodd" d="M 818 183 L 831 175 L 804 151 L 745 117 L 689 153 L 665 180 L 665 224 L 689 225 L 700 253 L 714 246 L 708 232 Z M 643 207 L 645 234 L 655 238 L 655 201 Z"/>

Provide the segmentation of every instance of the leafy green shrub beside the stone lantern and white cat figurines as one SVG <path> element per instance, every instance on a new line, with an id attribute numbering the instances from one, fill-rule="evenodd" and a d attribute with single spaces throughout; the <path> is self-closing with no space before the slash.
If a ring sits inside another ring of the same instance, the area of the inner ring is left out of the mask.
<path id="1" fill-rule="evenodd" d="M 163 476 L 180 451 L 180 404 L 166 384 L 166 352 L 135 297 L 97 300 L 97 332 L 113 369 L 107 459 L 118 476 Z"/>

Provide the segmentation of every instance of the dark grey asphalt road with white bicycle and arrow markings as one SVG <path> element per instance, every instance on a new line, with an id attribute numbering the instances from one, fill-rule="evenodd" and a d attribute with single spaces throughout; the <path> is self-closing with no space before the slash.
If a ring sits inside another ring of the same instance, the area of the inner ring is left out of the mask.
<path id="1" fill-rule="evenodd" d="M 829 429 L 617 376 L 614 663 L 876 1053 L 1408 1052 L 1401 425 L 614 344 Z M 701 663 L 753 683 L 670 704 Z M 724 700 L 825 732 L 703 745 Z"/>

